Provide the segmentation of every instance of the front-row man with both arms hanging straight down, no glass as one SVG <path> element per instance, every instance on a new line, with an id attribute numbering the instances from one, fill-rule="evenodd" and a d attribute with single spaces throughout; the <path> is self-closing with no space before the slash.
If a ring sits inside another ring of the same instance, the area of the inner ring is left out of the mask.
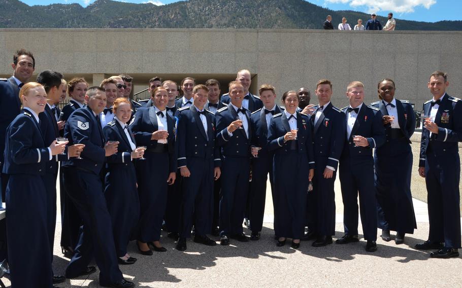
<path id="1" fill-rule="evenodd" d="M 186 238 L 194 224 L 194 242 L 209 246 L 216 242 L 210 233 L 213 181 L 220 177 L 220 152 L 215 146 L 215 116 L 204 109 L 208 89 L 197 85 L 192 90 L 194 104 L 178 109 L 178 168 L 181 185 L 180 237 L 176 248 L 186 250 Z"/>

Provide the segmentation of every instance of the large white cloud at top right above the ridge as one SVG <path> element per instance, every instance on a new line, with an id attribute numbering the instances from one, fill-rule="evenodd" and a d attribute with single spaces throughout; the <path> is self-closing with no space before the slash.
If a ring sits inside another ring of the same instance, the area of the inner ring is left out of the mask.
<path id="1" fill-rule="evenodd" d="M 365 6 L 368 13 L 379 11 L 412 13 L 417 6 L 430 9 L 436 4 L 436 0 L 325 0 L 325 3 L 349 4 L 351 7 Z"/>

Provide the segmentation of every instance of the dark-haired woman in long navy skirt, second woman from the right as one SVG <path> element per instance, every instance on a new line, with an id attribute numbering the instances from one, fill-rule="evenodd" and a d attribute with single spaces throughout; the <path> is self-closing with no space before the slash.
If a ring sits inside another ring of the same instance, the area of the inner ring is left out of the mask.
<path id="1" fill-rule="evenodd" d="M 309 117 L 297 112 L 299 95 L 282 95 L 285 111 L 273 116 L 268 130 L 268 151 L 273 160 L 275 214 L 274 232 L 278 246 L 292 238 L 292 247 L 300 246 L 305 233 L 305 211 L 309 181 L 314 174 L 313 139 Z"/>

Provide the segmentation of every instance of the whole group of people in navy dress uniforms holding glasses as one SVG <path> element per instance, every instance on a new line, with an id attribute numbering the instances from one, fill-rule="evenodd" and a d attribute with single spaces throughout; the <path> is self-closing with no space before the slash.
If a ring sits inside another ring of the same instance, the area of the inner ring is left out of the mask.
<path id="1" fill-rule="evenodd" d="M 336 243 L 359 241 L 358 214 L 367 251 L 377 250 L 378 227 L 385 241 L 396 231 L 397 244 L 416 229 L 410 189 L 416 119 L 408 101 L 394 98 L 391 79 L 378 83 L 380 101 L 371 105 L 364 85 L 349 83 L 349 106 L 340 110 L 328 80 L 316 84 L 317 105 L 308 105 L 301 88 L 285 92 L 279 106 L 271 85 L 261 85 L 259 96 L 249 92 L 248 70 L 221 97 L 214 79 L 195 85 L 185 78 L 178 97 L 175 82 L 155 77 L 151 97 L 140 104 L 128 97 L 127 75 L 88 87 L 83 78 L 66 83 L 45 70 L 29 82 L 35 59 L 26 50 L 14 55 L 13 68 L 11 78 L 0 79 L 7 206 L 0 256 L 8 259 L 13 287 L 52 287 L 91 274 L 93 258 L 102 286 L 132 287 L 118 266 L 137 261 L 127 244 L 137 240 L 142 255 L 152 255 L 151 247 L 167 251 L 161 229 L 178 250 L 187 249 L 192 233 L 194 242 L 210 246 L 216 245 L 210 234 L 221 245 L 258 240 L 268 177 L 277 246 L 287 238 L 293 248 L 301 240 L 314 239 L 314 247 L 333 242 L 337 172 L 345 234 Z M 416 248 L 436 249 L 437 258 L 457 257 L 460 248 L 462 101 L 445 93 L 448 84 L 440 71 L 430 77 L 434 97 L 424 104 L 419 155 L 430 234 Z M 66 93 L 72 100 L 59 112 Z M 65 277 L 51 266 L 59 165 L 61 246 L 72 258 Z"/>

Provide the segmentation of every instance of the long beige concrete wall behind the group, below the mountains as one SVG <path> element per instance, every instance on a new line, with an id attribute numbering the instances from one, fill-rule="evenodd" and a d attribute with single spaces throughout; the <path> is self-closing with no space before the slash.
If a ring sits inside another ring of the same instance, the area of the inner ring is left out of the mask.
<path id="1" fill-rule="evenodd" d="M 120 73 L 143 86 L 153 75 L 221 75 L 227 81 L 247 68 L 254 93 L 263 83 L 273 84 L 279 96 L 301 86 L 313 91 L 317 80 L 330 79 L 334 104 L 341 107 L 347 104 L 348 82 L 364 82 L 369 103 L 377 99 L 378 81 L 388 77 L 397 83 L 397 98 L 421 110 L 431 97 L 428 76 L 441 69 L 449 74 L 448 93 L 462 97 L 458 31 L 0 29 L 0 75 L 12 73 L 18 48 L 34 53 L 36 73 L 54 69 L 90 82 Z"/>

